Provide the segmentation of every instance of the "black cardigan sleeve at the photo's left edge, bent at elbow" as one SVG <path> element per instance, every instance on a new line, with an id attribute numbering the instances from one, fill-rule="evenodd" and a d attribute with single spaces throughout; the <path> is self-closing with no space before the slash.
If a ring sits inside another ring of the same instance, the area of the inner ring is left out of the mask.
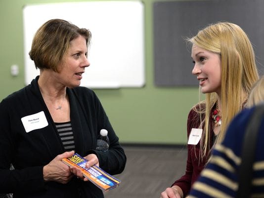
<path id="1" fill-rule="evenodd" d="M 9 115 L 9 105 L 12 104 L 4 100 L 0 103 L 0 193 L 44 190 L 43 166 L 9 169 L 15 151 L 15 137 L 10 127 L 13 120 Z"/>

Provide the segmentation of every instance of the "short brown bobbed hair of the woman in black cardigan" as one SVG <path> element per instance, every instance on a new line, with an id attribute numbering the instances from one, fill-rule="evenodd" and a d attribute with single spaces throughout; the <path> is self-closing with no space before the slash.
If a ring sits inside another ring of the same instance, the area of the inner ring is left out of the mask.
<path id="1" fill-rule="evenodd" d="M 36 68 L 57 71 L 58 64 L 63 61 L 70 41 L 83 36 L 87 45 L 90 44 L 91 33 L 88 29 L 62 19 L 51 19 L 45 22 L 36 32 L 29 52 Z"/>

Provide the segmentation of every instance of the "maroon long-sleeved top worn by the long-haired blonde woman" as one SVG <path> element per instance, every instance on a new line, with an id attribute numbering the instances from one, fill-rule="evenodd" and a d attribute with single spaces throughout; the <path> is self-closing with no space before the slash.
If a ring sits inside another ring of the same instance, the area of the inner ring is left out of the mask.
<path id="1" fill-rule="evenodd" d="M 205 115 L 203 115 L 202 119 Z M 210 120 L 212 124 L 212 120 Z M 199 128 L 200 116 L 194 110 L 191 110 L 187 119 L 187 137 L 189 137 L 192 128 Z M 210 127 L 210 140 L 213 140 L 214 131 L 212 125 Z M 210 149 L 213 146 L 213 141 L 210 141 Z M 207 158 L 200 158 L 200 141 L 197 145 L 188 145 L 188 158 L 186 164 L 185 174 L 178 180 L 174 182 L 172 186 L 179 186 L 183 192 L 183 197 L 187 196 L 190 192 L 192 184 L 198 179 L 200 172 L 204 169 Z"/>

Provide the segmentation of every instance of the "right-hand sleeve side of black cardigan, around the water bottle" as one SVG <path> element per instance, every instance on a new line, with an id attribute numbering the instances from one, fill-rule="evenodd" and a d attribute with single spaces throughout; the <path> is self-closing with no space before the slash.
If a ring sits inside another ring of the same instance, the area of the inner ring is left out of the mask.
<path id="1" fill-rule="evenodd" d="M 86 87 L 78 87 L 75 89 L 76 95 L 83 106 L 85 114 L 87 114 L 88 124 L 94 134 L 94 141 L 101 129 L 108 131 L 108 138 L 110 141 L 109 149 L 106 152 L 95 150 L 94 147 L 86 152 L 86 155 L 96 154 L 99 160 L 100 167 L 109 174 L 121 173 L 126 164 L 126 155 L 124 149 L 119 143 L 119 138 L 116 135 L 98 97 L 91 89 Z"/>

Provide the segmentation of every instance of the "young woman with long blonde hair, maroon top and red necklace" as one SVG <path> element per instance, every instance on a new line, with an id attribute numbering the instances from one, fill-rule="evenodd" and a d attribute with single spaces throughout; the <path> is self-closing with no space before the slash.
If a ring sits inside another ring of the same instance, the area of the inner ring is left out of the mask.
<path id="1" fill-rule="evenodd" d="M 185 174 L 162 192 L 161 198 L 188 196 L 212 147 L 223 139 L 226 126 L 244 108 L 252 85 L 259 79 L 253 47 L 238 25 L 212 24 L 188 41 L 192 44 L 192 74 L 206 99 L 188 115 Z"/>

